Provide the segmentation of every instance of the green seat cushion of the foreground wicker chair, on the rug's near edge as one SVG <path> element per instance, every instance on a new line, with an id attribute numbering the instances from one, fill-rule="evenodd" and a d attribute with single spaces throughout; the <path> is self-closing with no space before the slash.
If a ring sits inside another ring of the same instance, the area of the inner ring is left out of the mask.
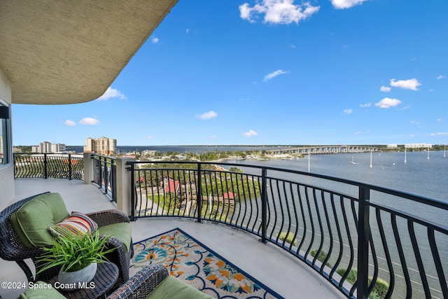
<path id="1" fill-rule="evenodd" d="M 186 284 L 185 282 L 168 275 L 162 282 L 154 289 L 146 299 L 210 299 L 213 298 L 206 293 L 202 293 L 197 288 Z"/>

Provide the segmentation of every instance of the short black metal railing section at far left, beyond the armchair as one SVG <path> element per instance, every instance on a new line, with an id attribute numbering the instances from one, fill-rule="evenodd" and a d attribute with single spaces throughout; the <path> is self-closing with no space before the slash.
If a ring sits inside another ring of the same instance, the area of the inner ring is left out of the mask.
<path id="1" fill-rule="evenodd" d="M 83 155 L 41 153 L 14 154 L 14 177 L 84 179 Z"/>

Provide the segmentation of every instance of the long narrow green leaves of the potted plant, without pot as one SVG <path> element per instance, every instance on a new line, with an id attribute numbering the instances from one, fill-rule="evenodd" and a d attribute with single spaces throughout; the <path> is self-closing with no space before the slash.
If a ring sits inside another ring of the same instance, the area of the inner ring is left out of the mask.
<path id="1" fill-rule="evenodd" d="M 108 237 L 101 237 L 98 232 L 86 235 L 71 235 L 56 237 L 53 246 L 44 247 L 44 253 L 37 258 L 41 265 L 38 273 L 51 267 L 62 266 L 65 272 L 81 270 L 91 263 L 106 263 L 106 254 L 113 249 L 107 249 Z"/>

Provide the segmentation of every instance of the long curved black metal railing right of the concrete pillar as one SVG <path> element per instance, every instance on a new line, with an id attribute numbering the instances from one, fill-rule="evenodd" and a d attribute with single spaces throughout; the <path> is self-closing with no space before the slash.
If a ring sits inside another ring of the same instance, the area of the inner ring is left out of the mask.
<path id="1" fill-rule="evenodd" d="M 246 230 L 349 298 L 448 298 L 447 202 L 274 167 L 129 164 L 133 218 L 186 217 Z"/>

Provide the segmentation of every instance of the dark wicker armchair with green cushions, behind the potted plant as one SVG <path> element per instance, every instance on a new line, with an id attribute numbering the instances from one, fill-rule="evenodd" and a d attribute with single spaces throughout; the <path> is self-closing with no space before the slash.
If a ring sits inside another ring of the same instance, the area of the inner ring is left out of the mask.
<path id="1" fill-rule="evenodd" d="M 122 211 L 106 210 L 86 214 L 98 224 L 100 234 L 111 235 L 109 248 L 116 248 L 107 258 L 115 263 L 120 274 L 114 289 L 129 279 L 132 248 L 131 225 Z M 20 200 L 0 212 L 0 257 L 13 260 L 27 275 L 28 281 L 48 281 L 57 275 L 59 269 L 53 267 L 33 277 L 25 259 L 34 261 L 43 251 L 43 246 L 52 245 L 52 235 L 48 228 L 69 216 L 59 193 L 42 193 Z"/>

